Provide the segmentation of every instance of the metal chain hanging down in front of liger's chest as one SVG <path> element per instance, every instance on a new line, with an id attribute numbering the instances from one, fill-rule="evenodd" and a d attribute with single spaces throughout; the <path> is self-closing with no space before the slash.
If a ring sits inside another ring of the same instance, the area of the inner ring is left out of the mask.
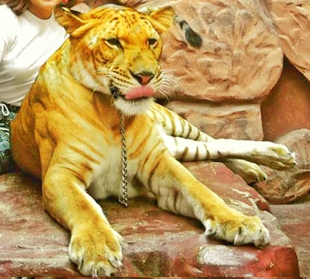
<path id="1" fill-rule="evenodd" d="M 119 197 L 118 201 L 124 206 L 128 207 L 128 175 L 127 175 L 127 151 L 126 151 L 126 141 L 125 141 L 125 125 L 123 114 L 119 111 L 120 116 L 120 132 L 122 137 L 122 196 Z"/>

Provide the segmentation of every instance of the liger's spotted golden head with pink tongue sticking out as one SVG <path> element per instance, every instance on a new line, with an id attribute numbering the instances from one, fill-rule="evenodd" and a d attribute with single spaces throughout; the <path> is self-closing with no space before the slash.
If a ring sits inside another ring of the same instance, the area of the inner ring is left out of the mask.
<path id="1" fill-rule="evenodd" d="M 150 15 L 105 5 L 87 14 L 62 8 L 58 22 L 70 34 L 71 73 L 93 91 L 110 94 L 117 109 L 134 115 L 163 90 L 160 35 L 173 21 L 171 7 Z"/>

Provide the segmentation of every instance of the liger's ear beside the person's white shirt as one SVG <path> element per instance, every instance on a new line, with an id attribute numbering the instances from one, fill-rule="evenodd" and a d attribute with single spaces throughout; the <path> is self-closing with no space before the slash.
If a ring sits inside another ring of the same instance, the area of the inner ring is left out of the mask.
<path id="1" fill-rule="evenodd" d="M 66 7 L 57 7 L 54 10 L 57 22 L 73 37 L 81 36 L 93 27 L 93 20 L 87 19 L 87 14 L 70 10 Z"/>

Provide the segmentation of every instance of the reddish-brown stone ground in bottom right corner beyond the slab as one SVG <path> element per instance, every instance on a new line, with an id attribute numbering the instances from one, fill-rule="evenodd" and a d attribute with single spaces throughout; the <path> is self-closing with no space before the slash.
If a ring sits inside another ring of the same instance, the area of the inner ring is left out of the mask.
<path id="1" fill-rule="evenodd" d="M 292 204 L 270 205 L 297 252 L 300 276 L 310 277 L 310 194 Z"/>

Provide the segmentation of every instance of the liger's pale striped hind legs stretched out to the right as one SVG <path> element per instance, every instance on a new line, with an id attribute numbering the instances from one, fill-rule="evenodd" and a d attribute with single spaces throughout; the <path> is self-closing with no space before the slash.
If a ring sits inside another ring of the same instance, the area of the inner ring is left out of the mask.
<path id="1" fill-rule="evenodd" d="M 165 145 L 180 161 L 217 160 L 248 183 L 266 179 L 258 164 L 276 169 L 291 168 L 294 153 L 284 145 L 266 141 L 216 140 L 173 111 L 155 104 L 148 110 Z"/>

